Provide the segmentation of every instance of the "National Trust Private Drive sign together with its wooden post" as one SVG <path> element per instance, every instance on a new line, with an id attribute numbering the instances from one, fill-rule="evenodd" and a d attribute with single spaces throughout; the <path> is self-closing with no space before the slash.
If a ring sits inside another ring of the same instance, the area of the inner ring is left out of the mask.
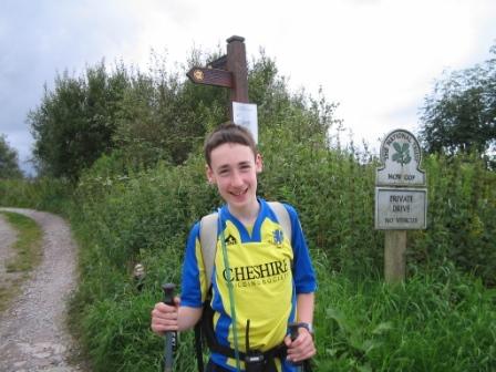
<path id="1" fill-rule="evenodd" d="M 375 177 L 375 228 L 385 230 L 384 278 L 405 278 L 406 230 L 427 227 L 427 188 L 420 168 L 421 147 L 404 130 L 388 134 L 381 144 L 382 166 Z"/>

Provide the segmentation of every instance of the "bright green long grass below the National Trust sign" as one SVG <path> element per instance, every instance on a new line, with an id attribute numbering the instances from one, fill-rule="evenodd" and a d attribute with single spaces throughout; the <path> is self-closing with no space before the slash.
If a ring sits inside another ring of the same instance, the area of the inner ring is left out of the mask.
<path id="1" fill-rule="evenodd" d="M 496 291 L 453 265 L 415 272 L 396 287 L 320 272 L 318 371 L 496 368 Z"/>

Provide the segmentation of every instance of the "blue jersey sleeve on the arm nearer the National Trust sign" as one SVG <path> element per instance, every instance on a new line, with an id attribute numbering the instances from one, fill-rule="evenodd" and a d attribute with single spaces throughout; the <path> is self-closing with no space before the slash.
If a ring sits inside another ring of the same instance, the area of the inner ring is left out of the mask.
<path id="1" fill-rule="evenodd" d="M 291 220 L 291 245 L 293 250 L 293 278 L 297 293 L 311 293 L 317 290 L 317 279 L 310 259 L 300 219 L 296 209 L 285 204 Z"/>

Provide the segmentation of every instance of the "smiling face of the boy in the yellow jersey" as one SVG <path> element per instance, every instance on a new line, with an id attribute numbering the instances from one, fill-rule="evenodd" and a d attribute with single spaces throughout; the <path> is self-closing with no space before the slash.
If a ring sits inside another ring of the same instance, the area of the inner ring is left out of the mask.
<path id="1" fill-rule="evenodd" d="M 207 178 L 217 185 L 223 199 L 239 210 L 257 200 L 257 173 L 261 168 L 260 155 L 250 147 L 226 143 L 211 151 Z"/>

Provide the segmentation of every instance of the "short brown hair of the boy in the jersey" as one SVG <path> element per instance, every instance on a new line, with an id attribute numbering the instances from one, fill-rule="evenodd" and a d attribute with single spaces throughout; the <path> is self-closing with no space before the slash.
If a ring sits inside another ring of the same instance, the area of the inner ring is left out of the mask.
<path id="1" fill-rule="evenodd" d="M 205 159 L 210 166 L 210 154 L 211 152 L 226 143 L 234 143 L 239 145 L 245 145 L 251 148 L 254 156 L 257 155 L 257 144 L 255 143 L 251 133 L 244 126 L 234 124 L 232 122 L 226 122 L 216 128 L 210 135 L 205 140 Z"/>

